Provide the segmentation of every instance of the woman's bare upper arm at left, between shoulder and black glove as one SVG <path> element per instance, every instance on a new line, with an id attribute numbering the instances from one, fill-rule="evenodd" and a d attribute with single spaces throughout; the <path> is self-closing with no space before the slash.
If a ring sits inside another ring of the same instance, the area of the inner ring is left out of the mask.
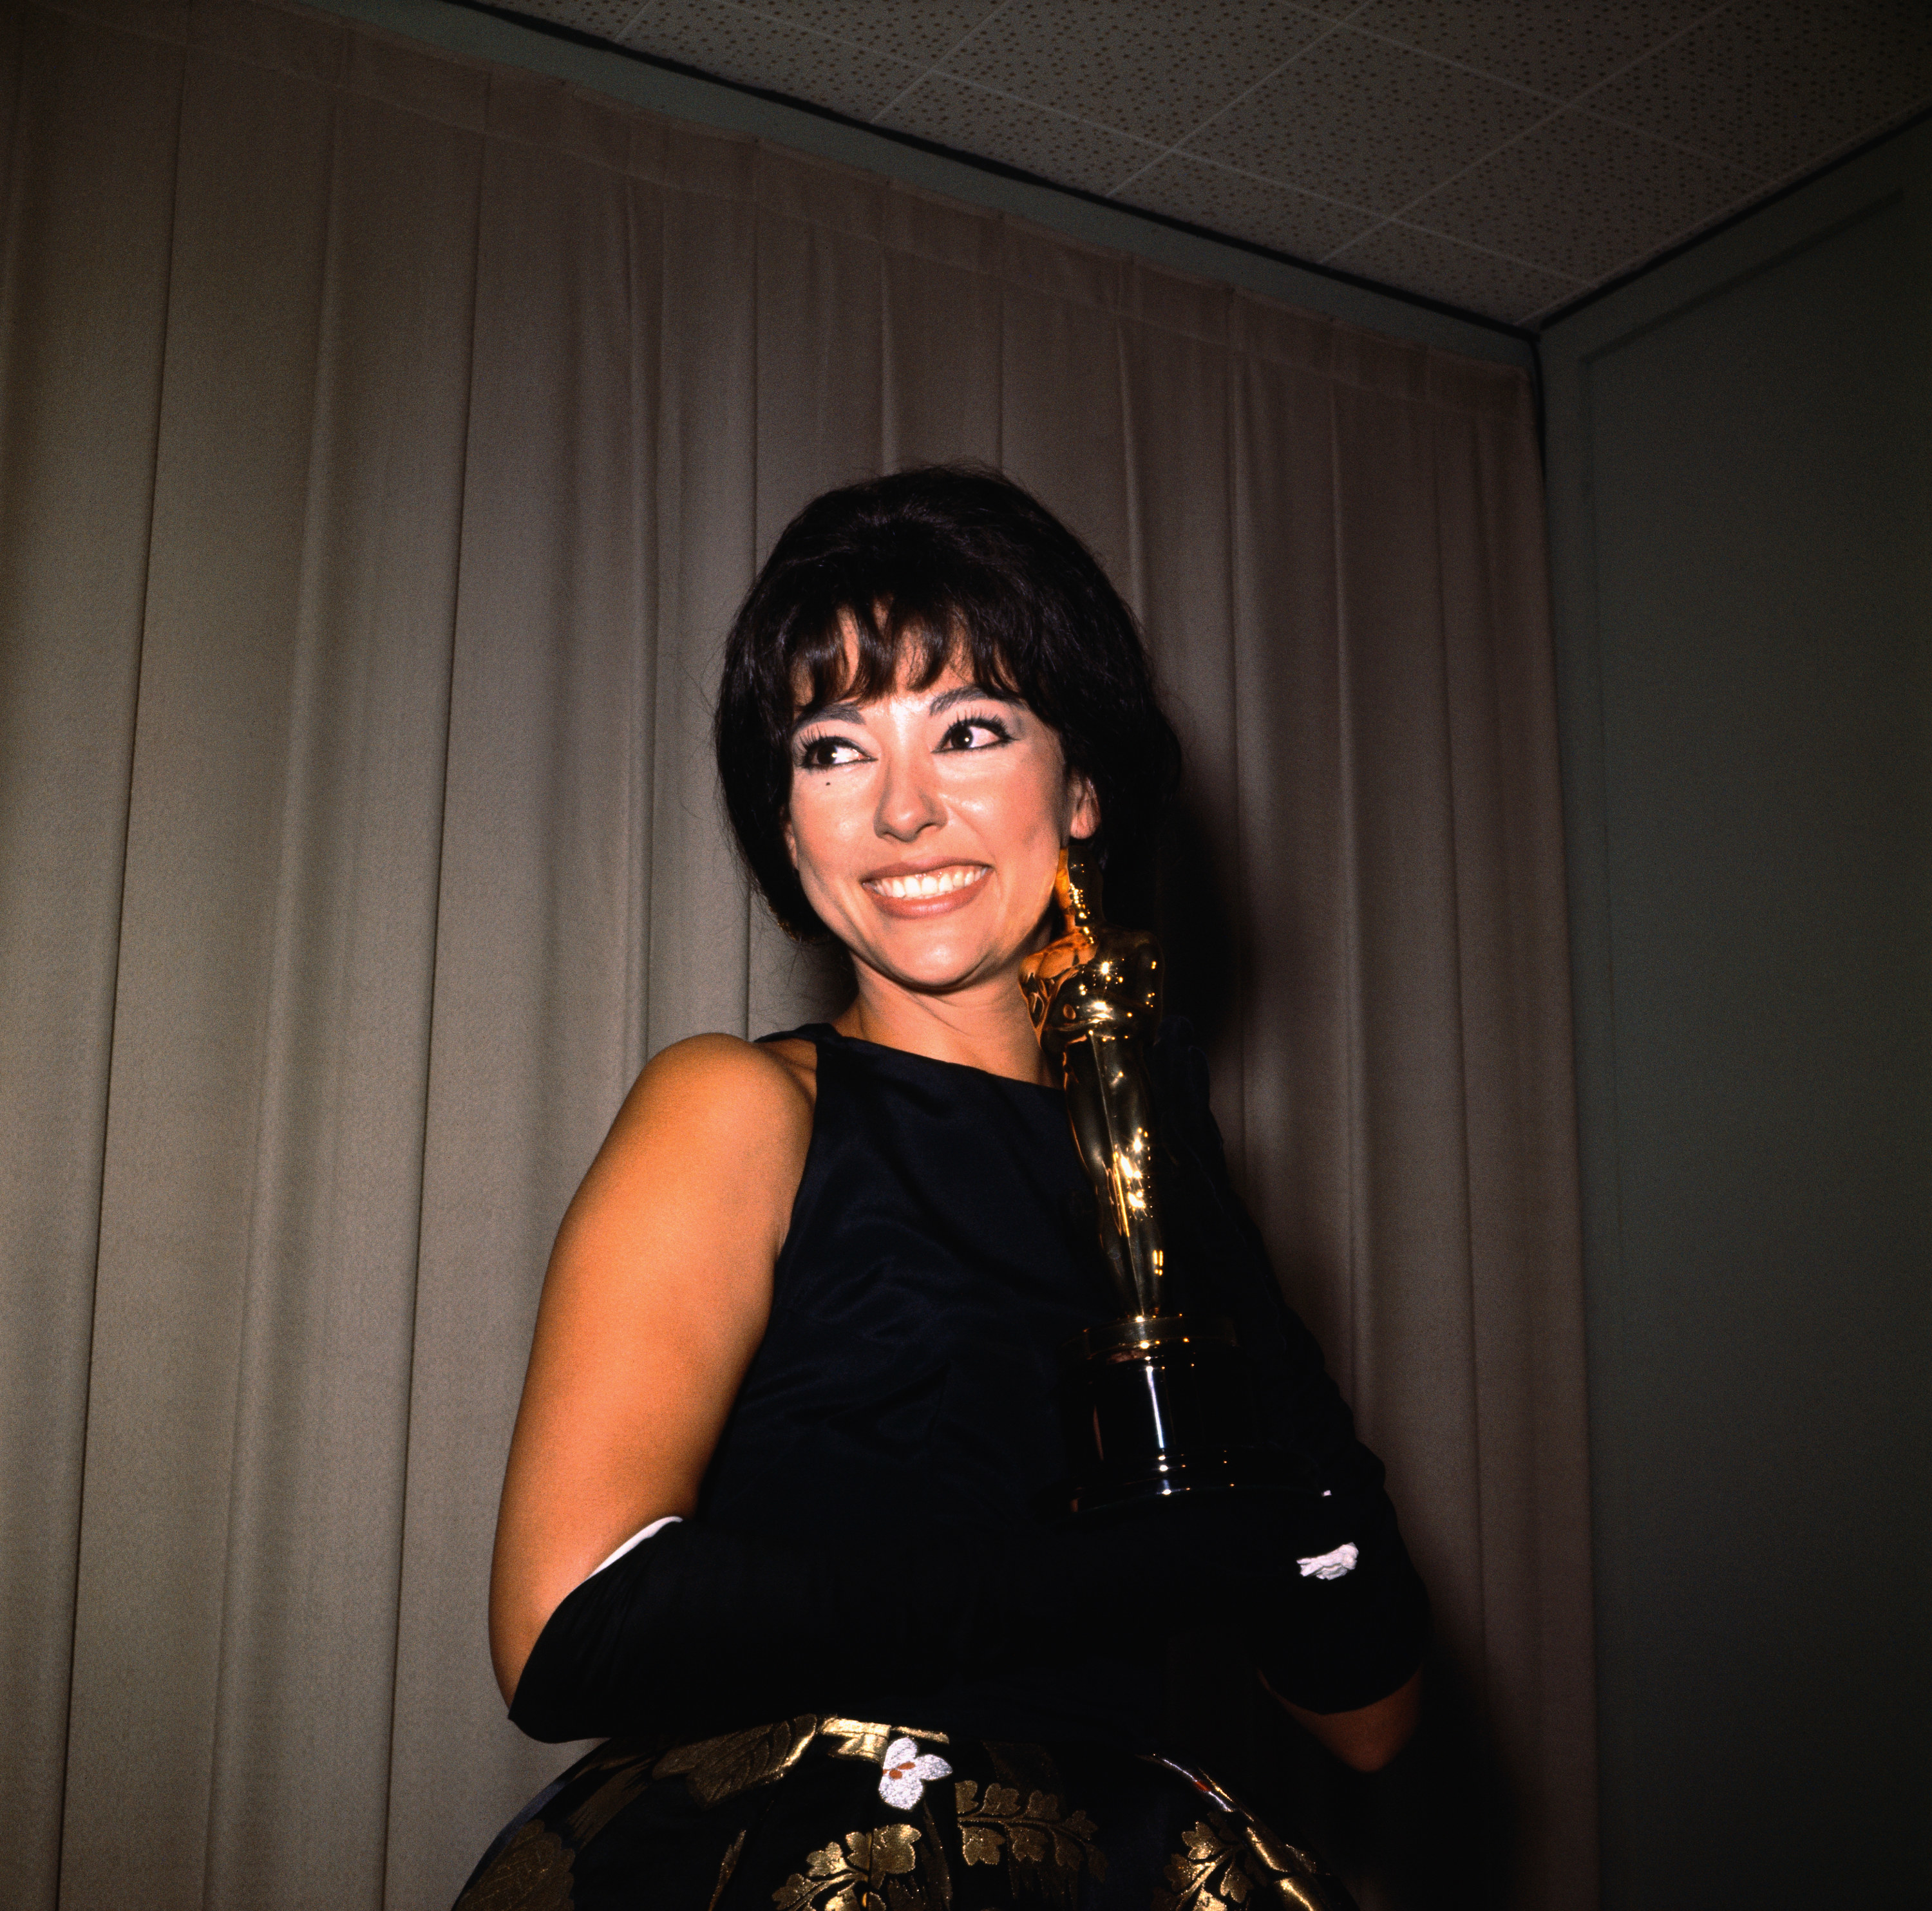
<path id="1" fill-rule="evenodd" d="M 508 1700 L 564 1596 L 697 1503 L 771 1314 L 811 1140 L 811 1074 L 732 1036 L 638 1076 L 551 1252 L 491 1561 Z"/>

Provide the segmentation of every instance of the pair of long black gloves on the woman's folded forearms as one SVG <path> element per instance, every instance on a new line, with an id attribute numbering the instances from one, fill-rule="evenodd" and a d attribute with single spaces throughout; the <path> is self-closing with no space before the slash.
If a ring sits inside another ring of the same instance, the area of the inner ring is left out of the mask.
<path id="1" fill-rule="evenodd" d="M 1350 1523 L 1356 1511 L 1335 1497 L 1190 1496 L 1113 1525 L 1028 1526 L 970 1546 L 864 1534 L 796 1546 L 680 1523 L 556 1608 L 510 1718 L 554 1743 L 866 1714 L 875 1693 L 981 1671 L 1157 1656 L 1169 1633 L 1202 1625 L 1235 1627 L 1250 1644 L 1294 1640 L 1285 1656 L 1262 1654 L 1269 1683 L 1343 1710 L 1393 1691 L 1414 1664 L 1414 1627 L 1391 1639 L 1385 1623 L 1393 1517 L 1374 1528 Z M 1339 1577 L 1302 1571 L 1349 1544 L 1358 1557 Z"/>

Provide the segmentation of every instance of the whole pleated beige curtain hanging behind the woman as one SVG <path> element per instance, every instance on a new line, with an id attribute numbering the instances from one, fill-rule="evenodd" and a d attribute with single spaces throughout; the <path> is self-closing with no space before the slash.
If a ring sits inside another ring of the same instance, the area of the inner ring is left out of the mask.
<path id="1" fill-rule="evenodd" d="M 1148 620 L 1238 1171 L 1590 1903 L 1526 381 L 257 0 L 4 0 L 0 164 L 6 1901 L 435 1907 L 562 1764 L 483 1646 L 551 1231 L 825 989 L 721 630 L 976 456 Z"/>

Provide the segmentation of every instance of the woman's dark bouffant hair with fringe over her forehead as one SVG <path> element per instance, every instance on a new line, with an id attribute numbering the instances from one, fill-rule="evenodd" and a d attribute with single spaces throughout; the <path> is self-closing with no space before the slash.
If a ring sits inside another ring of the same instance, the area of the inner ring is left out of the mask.
<path id="1" fill-rule="evenodd" d="M 858 632 L 846 669 L 842 620 Z M 923 690 L 958 659 L 1022 698 L 1099 798 L 1109 887 L 1138 887 L 1180 773 L 1134 613 L 1099 560 L 997 471 L 923 466 L 827 491 L 786 528 L 732 622 L 715 725 L 738 848 L 773 914 L 823 935 L 784 848 L 792 728 L 887 694 L 910 661 Z M 800 703 L 800 688 L 804 701 Z"/>

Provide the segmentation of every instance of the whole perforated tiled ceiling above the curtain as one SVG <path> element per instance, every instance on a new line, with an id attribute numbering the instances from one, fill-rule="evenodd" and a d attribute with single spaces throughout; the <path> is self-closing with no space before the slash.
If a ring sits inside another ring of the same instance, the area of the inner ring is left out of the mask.
<path id="1" fill-rule="evenodd" d="M 1932 106 L 1932 0 L 504 0 L 1536 325 Z"/>

